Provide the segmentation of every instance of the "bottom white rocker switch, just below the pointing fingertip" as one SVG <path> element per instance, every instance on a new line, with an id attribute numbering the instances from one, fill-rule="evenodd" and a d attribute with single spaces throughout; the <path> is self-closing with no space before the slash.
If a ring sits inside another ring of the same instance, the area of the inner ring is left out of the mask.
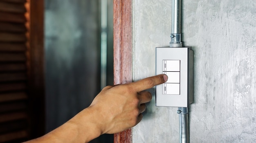
<path id="1" fill-rule="evenodd" d="M 163 84 L 164 95 L 180 95 L 180 84 Z"/>

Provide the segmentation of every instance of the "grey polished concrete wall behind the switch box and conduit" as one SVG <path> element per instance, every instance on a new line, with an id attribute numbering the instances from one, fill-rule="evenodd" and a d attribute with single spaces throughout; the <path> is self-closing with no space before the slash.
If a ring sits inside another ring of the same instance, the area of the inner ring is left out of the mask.
<path id="1" fill-rule="evenodd" d="M 256 142 L 256 1 L 182 0 L 183 45 L 195 53 L 191 143 Z M 171 0 L 133 0 L 133 77 L 155 75 L 168 46 Z M 177 108 L 148 104 L 133 143 L 178 143 Z"/>

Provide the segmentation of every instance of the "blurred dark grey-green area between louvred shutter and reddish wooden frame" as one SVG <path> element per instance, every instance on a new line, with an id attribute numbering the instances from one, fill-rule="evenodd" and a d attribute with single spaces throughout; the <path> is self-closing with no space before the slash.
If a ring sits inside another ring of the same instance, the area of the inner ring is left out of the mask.
<path id="1" fill-rule="evenodd" d="M 113 84 L 113 0 L 45 0 L 45 79 L 47 132 Z"/>

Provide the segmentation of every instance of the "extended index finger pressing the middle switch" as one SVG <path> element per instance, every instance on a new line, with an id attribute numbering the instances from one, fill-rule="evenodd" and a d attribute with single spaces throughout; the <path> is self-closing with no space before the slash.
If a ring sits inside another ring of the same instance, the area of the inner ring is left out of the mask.
<path id="1" fill-rule="evenodd" d="M 162 74 L 132 82 L 130 83 L 130 85 L 133 86 L 132 88 L 135 89 L 137 92 L 140 92 L 152 88 L 153 86 L 156 86 L 158 84 L 162 84 L 166 82 L 167 79 L 167 75 Z"/>

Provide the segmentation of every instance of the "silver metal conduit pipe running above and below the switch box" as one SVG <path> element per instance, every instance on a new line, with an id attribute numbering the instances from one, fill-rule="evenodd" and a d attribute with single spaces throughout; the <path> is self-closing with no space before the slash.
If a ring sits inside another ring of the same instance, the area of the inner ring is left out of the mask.
<path id="1" fill-rule="evenodd" d="M 172 0 L 172 33 L 170 47 L 182 47 L 181 0 Z M 189 108 L 179 107 L 180 143 L 189 143 Z"/>

